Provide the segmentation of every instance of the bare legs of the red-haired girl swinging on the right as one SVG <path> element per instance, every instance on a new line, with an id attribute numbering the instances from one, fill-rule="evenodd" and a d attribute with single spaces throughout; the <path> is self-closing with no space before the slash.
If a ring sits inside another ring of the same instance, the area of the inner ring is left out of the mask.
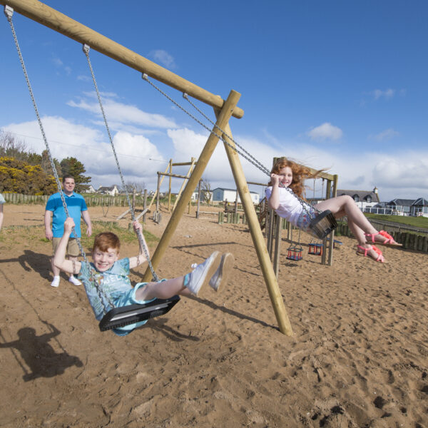
<path id="1" fill-rule="evenodd" d="M 371 248 L 370 243 L 367 243 L 365 233 L 377 234 L 377 230 L 372 226 L 367 217 L 362 213 L 360 208 L 357 207 L 355 201 L 348 195 L 337 196 L 323 200 L 316 205 L 319 210 L 330 210 L 335 218 L 347 216 L 347 224 L 350 227 L 352 234 L 357 239 L 358 245 L 362 248 Z M 383 242 L 387 238 L 379 235 L 379 242 Z M 379 257 L 374 250 L 368 253 L 374 260 Z"/>

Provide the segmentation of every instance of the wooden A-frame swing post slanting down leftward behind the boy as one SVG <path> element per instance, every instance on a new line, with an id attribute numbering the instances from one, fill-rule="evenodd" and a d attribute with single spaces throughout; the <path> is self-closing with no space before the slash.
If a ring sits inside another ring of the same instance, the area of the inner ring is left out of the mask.
<path id="1" fill-rule="evenodd" d="M 220 114 L 218 115 L 216 125 L 219 128 L 221 129 L 225 128 L 226 124 L 230 119 L 230 115 L 233 111 L 233 108 L 238 103 L 239 98 L 240 98 L 240 93 L 236 91 L 230 91 L 228 99 L 225 101 L 225 104 L 221 109 Z M 213 131 L 218 132 L 216 127 L 214 127 Z M 175 208 L 173 214 L 171 215 L 168 225 L 166 225 L 166 228 L 163 232 L 161 240 L 158 243 L 158 247 L 153 253 L 151 263 L 155 269 L 156 267 L 158 267 L 159 262 L 163 257 L 163 254 L 168 248 L 170 239 L 173 237 L 175 229 L 178 226 L 178 222 L 180 221 L 180 218 L 184 213 L 185 207 L 188 204 L 188 200 L 192 197 L 192 193 L 195 190 L 196 185 L 198 185 L 200 178 L 202 178 L 202 174 L 206 168 L 206 165 L 208 164 L 208 161 L 213 155 L 213 151 L 217 143 L 218 143 L 218 137 L 215 136 L 214 133 L 210 133 L 210 136 L 208 137 L 208 140 L 205 143 L 203 151 L 200 153 L 198 162 L 195 165 L 195 169 L 193 170 L 192 175 L 190 175 L 188 183 L 186 184 L 185 189 L 183 190 L 183 195 L 178 201 L 177 207 Z M 143 282 L 150 281 L 151 277 L 152 277 L 151 270 L 148 268 L 144 273 Z"/>

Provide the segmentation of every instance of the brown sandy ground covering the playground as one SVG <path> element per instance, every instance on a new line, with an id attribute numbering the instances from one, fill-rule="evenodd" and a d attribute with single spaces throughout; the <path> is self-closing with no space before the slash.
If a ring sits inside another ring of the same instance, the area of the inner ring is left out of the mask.
<path id="1" fill-rule="evenodd" d="M 93 220 L 121 211 L 89 210 Z M 298 263 L 283 254 L 287 337 L 248 228 L 186 214 L 158 275 L 182 275 L 227 250 L 236 260 L 227 287 L 182 298 L 117 337 L 99 332 L 83 287 L 65 277 L 50 287 L 43 214 L 41 205 L 5 205 L 1 427 L 428 428 L 427 254 L 385 248 L 388 263 L 374 263 L 355 255 L 351 238 L 339 238 L 332 267 L 306 245 Z M 164 213 L 146 229 L 160 237 L 167 222 Z M 123 245 L 121 255 L 136 248 Z"/>

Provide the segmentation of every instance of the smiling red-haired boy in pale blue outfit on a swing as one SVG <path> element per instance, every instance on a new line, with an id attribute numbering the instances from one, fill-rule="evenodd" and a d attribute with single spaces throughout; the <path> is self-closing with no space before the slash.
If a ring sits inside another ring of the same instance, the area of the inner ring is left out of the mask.
<path id="1" fill-rule="evenodd" d="M 93 263 L 66 260 L 66 246 L 73 226 L 73 219 L 67 218 L 64 223 L 63 237 L 54 256 L 54 264 L 61 270 L 78 274 L 78 279 L 83 282 L 89 303 L 98 321 L 104 315 L 104 307 L 111 309 L 111 303 L 114 307 L 123 307 L 143 305 L 157 298 L 168 299 L 174 295 L 198 295 L 200 289 L 208 282 L 213 290 L 218 291 L 220 286 L 227 282 L 234 263 L 232 254 L 220 255 L 215 251 L 186 275 L 161 282 L 139 282 L 132 287 L 129 280 L 130 270 L 147 261 L 141 243 L 137 256 L 119 260 L 121 243 L 118 236 L 111 232 L 98 233 L 93 243 Z M 143 226 L 138 221 L 133 223 L 133 227 L 136 232 L 142 232 Z M 141 236 L 148 254 L 146 240 L 142 233 Z M 101 293 L 98 293 L 97 285 L 102 289 Z M 116 335 L 125 336 L 146 322 L 140 321 L 112 330 Z"/>

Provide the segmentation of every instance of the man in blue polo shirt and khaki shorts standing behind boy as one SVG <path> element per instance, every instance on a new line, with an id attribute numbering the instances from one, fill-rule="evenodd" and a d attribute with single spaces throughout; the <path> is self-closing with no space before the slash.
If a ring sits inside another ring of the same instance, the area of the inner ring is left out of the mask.
<path id="1" fill-rule="evenodd" d="M 66 200 L 68 214 L 73 218 L 76 230 L 76 235 L 78 238 L 81 238 L 81 216 L 85 221 L 88 229 L 86 234 L 91 236 L 92 234 L 92 225 L 91 218 L 89 218 L 88 207 L 86 206 L 86 202 L 83 199 L 82 195 L 78 193 L 74 193 L 74 187 L 76 183 L 74 183 L 74 178 L 71 175 L 64 175 L 63 177 L 63 195 Z M 52 228 L 51 228 L 51 213 L 53 214 L 52 220 Z M 46 203 L 46 211 L 44 216 L 45 223 L 45 235 L 46 238 L 52 240 L 52 249 L 55 255 L 56 247 L 58 247 L 58 243 L 61 240 L 61 237 L 64 233 L 64 221 L 66 221 L 66 211 L 63 208 L 63 203 L 61 200 L 61 194 L 54 193 L 48 199 L 48 203 Z M 68 259 L 71 261 L 76 261 L 78 255 L 80 253 L 80 249 L 78 248 L 78 244 L 76 242 L 76 236 L 71 234 L 70 239 L 67 244 L 67 254 Z M 54 265 L 54 258 L 51 259 L 52 272 L 54 272 L 54 280 L 51 282 L 52 287 L 58 287 L 59 285 L 59 269 Z M 70 274 L 68 280 L 74 285 L 81 285 L 81 282 Z"/>

